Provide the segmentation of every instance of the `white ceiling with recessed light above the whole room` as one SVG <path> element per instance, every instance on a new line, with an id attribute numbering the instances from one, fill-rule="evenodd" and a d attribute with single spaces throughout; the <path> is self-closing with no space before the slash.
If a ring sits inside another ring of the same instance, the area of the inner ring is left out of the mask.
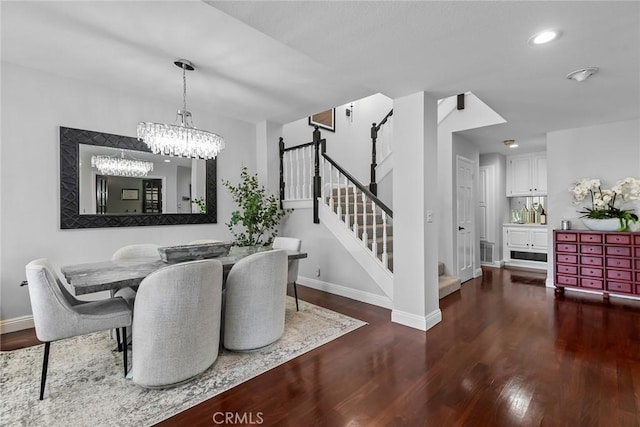
<path id="1" fill-rule="evenodd" d="M 640 116 L 640 2 L 2 2 L 2 60 L 258 122 L 288 123 L 373 93 L 473 92 L 501 141 Z M 545 28 L 562 37 L 531 46 Z M 570 71 L 596 66 L 584 83 Z M 603 143 L 606 141 L 603 141 Z M 522 144 L 521 144 L 522 146 Z M 525 147 L 526 149 L 526 147 Z"/>

